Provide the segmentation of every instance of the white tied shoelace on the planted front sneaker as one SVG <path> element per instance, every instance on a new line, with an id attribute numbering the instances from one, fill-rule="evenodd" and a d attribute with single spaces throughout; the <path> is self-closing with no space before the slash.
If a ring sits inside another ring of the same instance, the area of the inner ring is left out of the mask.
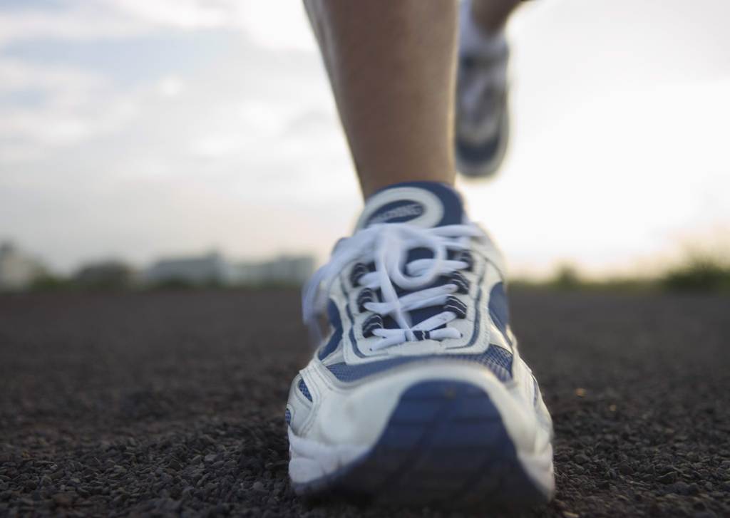
<path id="1" fill-rule="evenodd" d="M 447 258 L 448 250 L 466 250 L 469 238 L 483 236 L 483 232 L 472 223 L 464 225 L 445 225 L 435 228 L 419 228 L 406 223 L 380 223 L 342 239 L 332 252 L 325 266 L 312 276 L 302 293 L 304 322 L 317 328 L 317 315 L 323 312 L 327 293 L 339 273 L 348 263 L 361 260 L 375 263 L 375 270 L 363 274 L 359 285 L 370 289 L 380 289 L 382 302 L 366 302 L 364 307 L 380 314 L 391 316 L 399 328 L 378 328 L 372 331 L 381 340 L 373 344 L 372 350 L 383 349 L 406 341 L 423 339 L 423 331 L 430 331 L 431 339 L 460 338 L 461 333 L 454 328 L 440 328 L 454 320 L 455 312 L 445 310 L 416 325 L 412 325 L 410 312 L 426 306 L 443 306 L 450 294 L 455 293 L 455 284 L 446 284 L 428 289 L 437 277 L 465 269 L 469 264 L 464 260 Z M 433 258 L 412 260 L 406 264 L 409 250 L 426 248 L 433 252 Z M 410 291 L 399 297 L 396 287 Z M 440 329 L 437 329 L 440 328 Z"/>

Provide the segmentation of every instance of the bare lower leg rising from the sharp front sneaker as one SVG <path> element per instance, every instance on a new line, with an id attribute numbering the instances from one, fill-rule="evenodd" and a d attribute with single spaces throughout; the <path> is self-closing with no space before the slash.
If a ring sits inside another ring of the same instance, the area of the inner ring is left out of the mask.
<path id="1" fill-rule="evenodd" d="M 453 184 L 456 1 L 305 0 L 364 196 Z"/>

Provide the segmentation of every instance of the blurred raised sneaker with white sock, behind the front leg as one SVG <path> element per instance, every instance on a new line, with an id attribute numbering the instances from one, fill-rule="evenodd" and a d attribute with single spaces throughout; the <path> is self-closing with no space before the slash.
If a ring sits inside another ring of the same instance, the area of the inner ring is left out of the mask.
<path id="1" fill-rule="evenodd" d="M 456 169 L 467 177 L 488 177 L 499 169 L 507 150 L 507 59 L 504 34 L 483 33 L 462 2 L 459 15 L 456 80 Z"/>

